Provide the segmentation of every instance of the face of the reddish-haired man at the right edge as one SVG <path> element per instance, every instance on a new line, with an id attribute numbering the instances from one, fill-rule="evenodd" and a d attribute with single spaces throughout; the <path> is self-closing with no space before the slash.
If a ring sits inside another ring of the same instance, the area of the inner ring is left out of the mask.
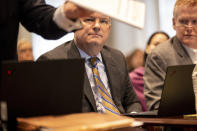
<path id="1" fill-rule="evenodd" d="M 173 18 L 173 28 L 183 44 L 197 49 L 197 7 L 178 6 Z"/>

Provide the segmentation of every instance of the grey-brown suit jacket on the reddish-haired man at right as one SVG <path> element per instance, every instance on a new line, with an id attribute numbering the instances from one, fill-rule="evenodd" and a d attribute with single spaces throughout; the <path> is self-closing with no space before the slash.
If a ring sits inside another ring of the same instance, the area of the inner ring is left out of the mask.
<path id="1" fill-rule="evenodd" d="M 144 72 L 144 95 L 149 110 L 159 108 L 167 67 L 187 64 L 192 64 L 192 60 L 177 37 L 158 45 L 151 52 Z"/>

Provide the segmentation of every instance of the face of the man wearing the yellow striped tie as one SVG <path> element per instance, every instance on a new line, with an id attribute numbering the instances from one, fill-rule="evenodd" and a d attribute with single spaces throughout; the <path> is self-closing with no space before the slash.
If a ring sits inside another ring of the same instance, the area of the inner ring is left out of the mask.
<path id="1" fill-rule="evenodd" d="M 80 18 L 83 28 L 75 32 L 75 41 L 79 48 L 89 55 L 97 55 L 108 39 L 111 22 L 108 16 L 92 13 Z"/>

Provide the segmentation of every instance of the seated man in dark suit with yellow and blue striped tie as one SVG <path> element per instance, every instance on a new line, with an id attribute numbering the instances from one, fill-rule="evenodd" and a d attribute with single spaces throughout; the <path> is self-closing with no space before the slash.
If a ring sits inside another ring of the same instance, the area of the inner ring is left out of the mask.
<path id="1" fill-rule="evenodd" d="M 85 58 L 83 112 L 119 115 L 141 111 L 124 55 L 104 45 L 110 34 L 110 18 L 93 12 L 80 21 L 83 28 L 75 32 L 73 41 L 47 52 L 38 60 Z"/>

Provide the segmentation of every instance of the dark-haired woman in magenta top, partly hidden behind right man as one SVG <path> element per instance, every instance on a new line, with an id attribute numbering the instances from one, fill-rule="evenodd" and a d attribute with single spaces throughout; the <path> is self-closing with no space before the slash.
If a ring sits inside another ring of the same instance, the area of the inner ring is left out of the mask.
<path id="1" fill-rule="evenodd" d="M 146 62 L 146 58 L 148 54 L 151 53 L 151 51 L 160 43 L 166 41 L 169 39 L 168 34 L 165 32 L 155 32 L 151 35 L 151 37 L 148 40 L 148 43 L 146 45 L 145 53 L 144 53 L 144 64 Z M 146 107 L 146 100 L 144 97 L 144 64 L 141 67 L 138 67 L 134 69 L 134 71 L 129 73 L 130 80 L 132 83 L 132 86 L 138 96 L 138 99 L 140 100 L 140 103 L 142 105 L 142 110 L 147 111 Z"/>

